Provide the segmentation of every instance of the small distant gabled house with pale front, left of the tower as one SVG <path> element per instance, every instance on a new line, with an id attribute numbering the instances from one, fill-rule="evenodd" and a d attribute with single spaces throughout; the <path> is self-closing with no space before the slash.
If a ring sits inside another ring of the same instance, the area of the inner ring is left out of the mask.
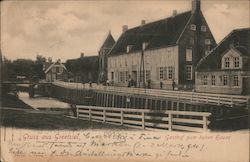
<path id="1" fill-rule="evenodd" d="M 47 82 L 54 82 L 55 80 L 67 81 L 68 71 L 64 64 L 60 60 L 54 63 L 48 63 L 45 65 L 45 76 Z"/>

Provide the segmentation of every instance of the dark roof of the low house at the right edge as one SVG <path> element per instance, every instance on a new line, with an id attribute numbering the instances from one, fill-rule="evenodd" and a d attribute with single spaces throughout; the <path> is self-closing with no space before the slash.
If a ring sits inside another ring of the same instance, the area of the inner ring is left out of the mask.
<path id="1" fill-rule="evenodd" d="M 231 48 L 250 58 L 250 28 L 236 29 L 228 34 L 208 55 L 197 64 L 196 70 L 215 70 L 221 68 L 222 56 Z"/>

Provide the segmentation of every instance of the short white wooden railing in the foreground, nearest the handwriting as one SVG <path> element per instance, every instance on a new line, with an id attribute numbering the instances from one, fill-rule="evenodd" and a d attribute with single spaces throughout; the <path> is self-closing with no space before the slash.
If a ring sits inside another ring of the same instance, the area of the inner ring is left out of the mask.
<path id="1" fill-rule="evenodd" d="M 208 131 L 208 112 L 164 111 L 77 105 L 77 118 L 149 130 Z M 182 117 L 181 117 L 182 116 Z M 184 118 L 185 117 L 185 118 Z M 191 119 L 196 117 L 195 119 Z M 197 119 L 198 117 L 198 119 Z"/>

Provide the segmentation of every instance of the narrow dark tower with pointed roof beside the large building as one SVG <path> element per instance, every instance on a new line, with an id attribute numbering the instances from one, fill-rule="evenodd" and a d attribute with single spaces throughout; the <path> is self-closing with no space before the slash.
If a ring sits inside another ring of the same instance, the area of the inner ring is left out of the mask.
<path id="1" fill-rule="evenodd" d="M 108 76 L 107 76 L 107 55 L 112 49 L 112 47 L 115 44 L 115 40 L 113 36 L 111 35 L 111 32 L 109 32 L 107 38 L 103 42 L 98 55 L 98 63 L 99 63 L 99 70 L 98 70 L 98 82 L 99 83 L 105 83 Z"/>

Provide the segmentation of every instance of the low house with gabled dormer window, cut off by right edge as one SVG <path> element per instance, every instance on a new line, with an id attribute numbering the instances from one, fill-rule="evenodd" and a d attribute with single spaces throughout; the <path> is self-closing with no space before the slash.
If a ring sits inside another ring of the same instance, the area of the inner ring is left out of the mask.
<path id="1" fill-rule="evenodd" d="M 233 30 L 196 67 L 196 91 L 250 94 L 250 28 Z"/>

